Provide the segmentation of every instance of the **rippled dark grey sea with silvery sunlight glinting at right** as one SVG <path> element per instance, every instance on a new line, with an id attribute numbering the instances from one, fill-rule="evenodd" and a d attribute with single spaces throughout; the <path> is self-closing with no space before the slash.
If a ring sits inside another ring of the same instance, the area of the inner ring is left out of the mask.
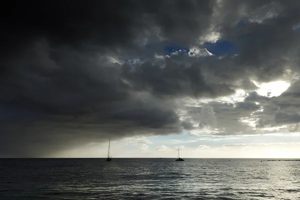
<path id="1" fill-rule="evenodd" d="M 0 199 L 300 199 L 300 161 L 1 158 Z"/>

